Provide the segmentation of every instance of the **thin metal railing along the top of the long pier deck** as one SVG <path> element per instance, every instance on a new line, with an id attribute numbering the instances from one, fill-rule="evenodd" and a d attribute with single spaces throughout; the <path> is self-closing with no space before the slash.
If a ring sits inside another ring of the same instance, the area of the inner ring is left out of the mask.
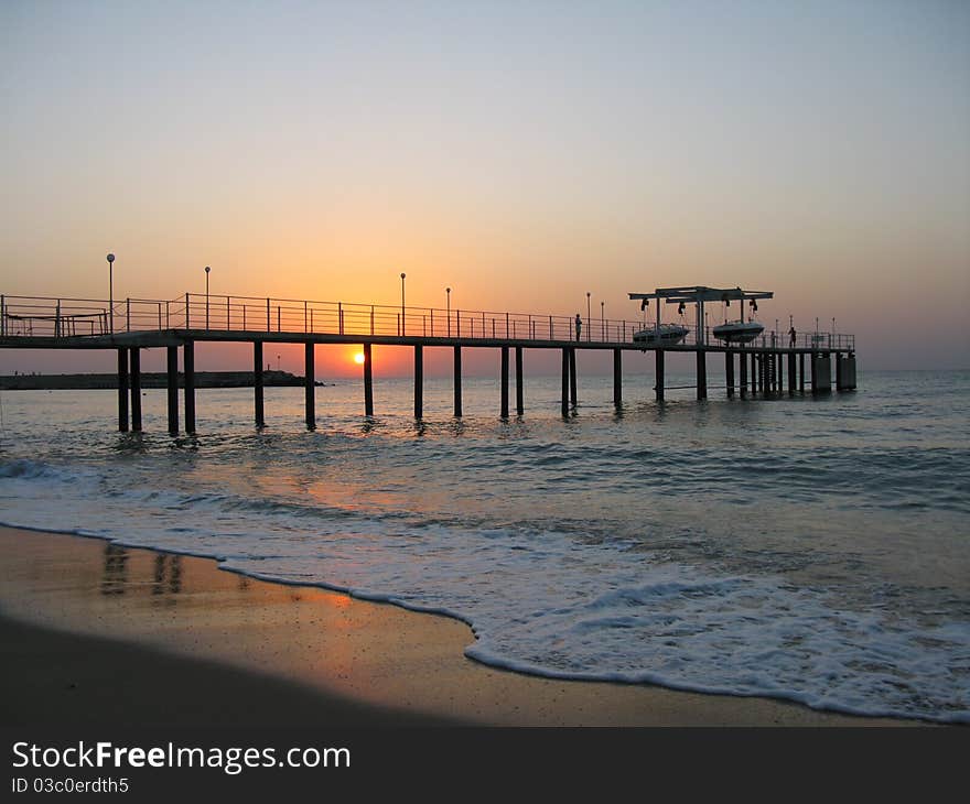
<path id="1" fill-rule="evenodd" d="M 541 315 L 439 307 L 408 307 L 344 302 L 206 295 L 173 300 L 54 298 L 0 296 L 0 337 L 85 337 L 111 333 L 192 329 L 213 333 L 291 333 L 293 335 L 390 336 L 482 340 L 542 340 L 629 344 L 653 322 L 606 317 Z M 710 327 L 705 343 L 720 346 Z M 683 346 L 697 345 L 689 327 Z M 853 350 L 855 337 L 834 333 L 766 332 L 743 348 Z"/>

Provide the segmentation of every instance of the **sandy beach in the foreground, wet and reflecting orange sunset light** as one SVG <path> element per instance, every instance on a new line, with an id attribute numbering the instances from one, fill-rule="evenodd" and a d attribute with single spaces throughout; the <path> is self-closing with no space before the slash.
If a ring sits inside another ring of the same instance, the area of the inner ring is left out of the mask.
<path id="1" fill-rule="evenodd" d="M 216 562 L 0 528 L 4 725 L 887 726 L 466 659 L 471 629 Z"/>

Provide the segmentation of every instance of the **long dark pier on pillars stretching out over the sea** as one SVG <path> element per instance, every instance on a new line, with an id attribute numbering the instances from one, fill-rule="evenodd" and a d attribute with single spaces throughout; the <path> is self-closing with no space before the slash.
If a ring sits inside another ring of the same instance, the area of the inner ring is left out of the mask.
<path id="1" fill-rule="evenodd" d="M 413 349 L 414 416 L 423 415 L 424 348 L 445 347 L 454 354 L 454 410 L 462 415 L 462 350 L 499 350 L 498 413 L 509 416 L 509 371 L 515 371 L 515 412 L 525 414 L 525 350 L 557 349 L 561 352 L 561 411 L 575 409 L 578 349 L 610 350 L 613 357 L 613 403 L 623 405 L 623 352 L 655 354 L 655 394 L 665 396 L 667 352 L 692 352 L 697 366 L 697 398 L 707 399 L 708 359 L 723 355 L 726 394 L 741 398 L 830 393 L 855 389 L 855 338 L 836 333 L 765 333 L 750 343 L 719 343 L 707 325 L 704 304 L 731 301 L 742 311 L 747 302 L 769 292 L 703 286 L 657 289 L 630 293 L 646 309 L 656 306 L 656 325 L 646 319 L 608 319 L 487 311 L 440 309 L 342 302 L 311 302 L 273 297 L 246 297 L 185 293 L 174 300 L 54 298 L 0 295 L 0 348 L 19 349 L 114 349 L 118 356 L 118 430 L 140 431 L 141 349 L 166 349 L 168 424 L 180 433 L 179 388 L 183 388 L 183 424 L 194 433 L 195 345 L 247 343 L 252 345 L 254 422 L 265 425 L 263 347 L 267 344 L 301 344 L 304 347 L 305 425 L 316 426 L 314 348 L 317 344 L 358 345 L 364 354 L 363 408 L 374 415 L 374 346 L 405 346 Z M 660 304 L 696 306 L 696 325 L 678 343 L 634 340 L 637 333 L 660 327 Z M 743 320 L 743 316 L 742 316 Z M 180 378 L 179 350 L 183 371 Z M 514 360 L 510 360 L 514 350 Z M 806 362 L 808 376 L 806 376 Z M 735 370 L 736 367 L 736 370 Z M 786 371 L 787 369 L 787 371 Z"/>

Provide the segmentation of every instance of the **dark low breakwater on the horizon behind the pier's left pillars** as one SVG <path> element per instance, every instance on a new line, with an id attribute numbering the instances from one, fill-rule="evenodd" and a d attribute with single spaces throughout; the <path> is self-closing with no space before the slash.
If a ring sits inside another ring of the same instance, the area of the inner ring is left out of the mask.
<path id="1" fill-rule="evenodd" d="M 262 384 L 266 387 L 302 387 L 303 378 L 289 371 L 263 371 Z M 325 385 L 325 382 L 316 382 Z M 252 388 L 251 371 L 196 371 L 196 388 Z M 168 388 L 169 378 L 163 371 L 143 372 L 141 387 Z M 179 372 L 179 388 L 185 387 L 185 377 Z M 0 377 L 3 391 L 90 391 L 117 389 L 117 374 L 6 374 Z"/>

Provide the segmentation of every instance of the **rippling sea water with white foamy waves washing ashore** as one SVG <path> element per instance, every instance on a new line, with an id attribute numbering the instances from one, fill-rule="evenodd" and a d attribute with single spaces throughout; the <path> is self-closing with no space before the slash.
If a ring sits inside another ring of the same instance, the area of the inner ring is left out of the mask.
<path id="1" fill-rule="evenodd" d="M 690 377 L 668 380 L 690 382 Z M 488 664 L 970 721 L 970 373 L 856 393 L 653 401 L 628 377 L 202 390 L 197 438 L 112 432 L 109 391 L 3 392 L 0 520 L 215 556 L 263 578 L 449 612 Z"/>

